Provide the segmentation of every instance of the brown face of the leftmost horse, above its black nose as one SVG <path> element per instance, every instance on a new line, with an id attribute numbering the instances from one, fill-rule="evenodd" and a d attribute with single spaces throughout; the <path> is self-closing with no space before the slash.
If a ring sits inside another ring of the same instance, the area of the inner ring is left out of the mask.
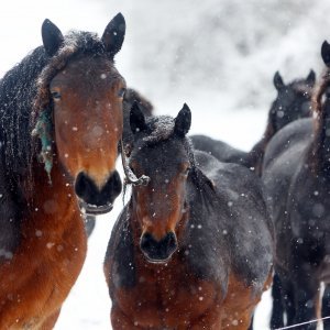
<path id="1" fill-rule="evenodd" d="M 67 77 L 67 70 L 72 78 Z M 87 78 L 89 70 L 94 76 L 91 81 Z M 100 78 L 101 75 L 107 78 Z M 106 79 L 113 80 L 110 90 Z M 61 162 L 73 177 L 85 170 L 100 188 L 116 168 L 117 145 L 123 125 L 122 99 L 117 94 L 124 86 L 112 66 L 105 68 L 103 62 L 87 57 L 68 65 L 53 79 L 50 88 L 62 95 L 62 100 L 54 102 Z"/>

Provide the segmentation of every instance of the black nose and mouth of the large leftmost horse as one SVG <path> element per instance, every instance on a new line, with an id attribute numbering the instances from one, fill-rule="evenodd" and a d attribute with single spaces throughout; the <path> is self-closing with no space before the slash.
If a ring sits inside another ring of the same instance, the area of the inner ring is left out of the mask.
<path id="1" fill-rule="evenodd" d="M 121 180 L 117 170 L 100 189 L 84 172 L 76 178 L 75 191 L 80 209 L 87 215 L 103 215 L 112 210 L 114 199 L 121 193 Z"/>

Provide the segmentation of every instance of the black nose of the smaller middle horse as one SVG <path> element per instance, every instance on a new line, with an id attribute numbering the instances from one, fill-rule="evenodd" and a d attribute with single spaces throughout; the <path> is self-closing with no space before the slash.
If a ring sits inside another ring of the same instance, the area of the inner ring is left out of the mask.
<path id="1" fill-rule="evenodd" d="M 145 232 L 141 237 L 140 248 L 150 262 L 164 263 L 177 249 L 176 235 L 174 232 L 168 232 L 157 241 L 151 233 Z"/>

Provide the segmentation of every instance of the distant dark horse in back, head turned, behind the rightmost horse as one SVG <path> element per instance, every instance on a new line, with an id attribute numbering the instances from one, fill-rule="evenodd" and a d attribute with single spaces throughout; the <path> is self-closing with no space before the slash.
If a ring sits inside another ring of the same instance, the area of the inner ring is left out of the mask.
<path id="1" fill-rule="evenodd" d="M 295 79 L 287 85 L 284 84 L 280 74 L 275 73 L 273 82 L 277 90 L 277 97 L 268 111 L 265 132 L 250 152 L 238 150 L 226 142 L 206 135 L 190 136 L 194 146 L 210 153 L 221 162 L 246 166 L 261 176 L 264 152 L 274 134 L 294 120 L 310 117 L 310 99 L 315 81 L 314 70 L 310 70 L 306 78 Z"/>

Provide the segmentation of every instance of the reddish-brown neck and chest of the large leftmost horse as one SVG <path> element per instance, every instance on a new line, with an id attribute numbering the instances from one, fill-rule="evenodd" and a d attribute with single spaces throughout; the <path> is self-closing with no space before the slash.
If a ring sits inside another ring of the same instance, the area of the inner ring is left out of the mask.
<path id="1" fill-rule="evenodd" d="M 42 165 L 33 166 L 40 194 L 30 196 L 21 244 L 0 267 L 0 329 L 52 329 L 84 264 L 80 212 L 61 165 L 54 165 L 52 189 L 43 184 Z"/>

